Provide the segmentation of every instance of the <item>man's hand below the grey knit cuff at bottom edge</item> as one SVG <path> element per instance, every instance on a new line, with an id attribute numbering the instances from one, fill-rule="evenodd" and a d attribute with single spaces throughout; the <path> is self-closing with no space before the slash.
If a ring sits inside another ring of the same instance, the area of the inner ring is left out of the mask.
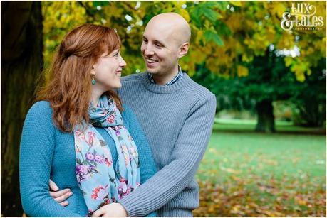
<path id="1" fill-rule="evenodd" d="M 92 217 L 127 217 L 127 212 L 120 203 L 112 203 L 95 210 Z"/>

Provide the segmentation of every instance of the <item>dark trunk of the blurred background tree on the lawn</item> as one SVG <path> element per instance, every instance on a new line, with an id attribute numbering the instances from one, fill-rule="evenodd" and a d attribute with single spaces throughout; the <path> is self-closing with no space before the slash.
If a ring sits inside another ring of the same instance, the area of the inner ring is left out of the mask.
<path id="1" fill-rule="evenodd" d="M 256 123 L 256 131 L 273 133 L 275 131 L 275 117 L 272 100 L 263 100 L 256 103 L 256 111 L 258 121 Z"/>

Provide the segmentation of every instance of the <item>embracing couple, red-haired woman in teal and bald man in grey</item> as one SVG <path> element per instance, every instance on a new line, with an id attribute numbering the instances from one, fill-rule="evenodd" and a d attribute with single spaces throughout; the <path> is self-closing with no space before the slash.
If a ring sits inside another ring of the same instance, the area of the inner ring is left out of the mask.
<path id="1" fill-rule="evenodd" d="M 112 28 L 66 34 L 24 122 L 28 216 L 192 217 L 216 99 L 178 64 L 190 36 L 177 13 L 153 17 L 141 45 L 147 71 L 120 78 L 126 62 Z"/>

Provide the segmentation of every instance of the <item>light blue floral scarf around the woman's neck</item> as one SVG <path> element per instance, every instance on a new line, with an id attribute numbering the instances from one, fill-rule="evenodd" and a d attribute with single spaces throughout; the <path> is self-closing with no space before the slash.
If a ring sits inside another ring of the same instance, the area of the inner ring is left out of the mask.
<path id="1" fill-rule="evenodd" d="M 88 109 L 90 124 L 84 131 L 74 129 L 76 178 L 83 192 L 89 215 L 111 202 L 118 202 L 140 185 L 137 147 L 113 99 L 103 95 L 96 107 Z M 86 124 L 85 124 L 86 125 Z M 118 161 L 113 159 L 107 143 L 93 126 L 100 126 L 115 141 Z"/>

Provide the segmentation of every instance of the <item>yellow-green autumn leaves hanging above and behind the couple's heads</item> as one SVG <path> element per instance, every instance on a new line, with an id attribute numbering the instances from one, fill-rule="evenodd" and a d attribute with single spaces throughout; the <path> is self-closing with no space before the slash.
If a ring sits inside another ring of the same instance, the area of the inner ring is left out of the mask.
<path id="1" fill-rule="evenodd" d="M 281 15 L 291 6 L 285 1 L 45 1 L 42 4 L 46 63 L 69 29 L 89 22 L 118 31 L 123 42 L 122 55 L 128 62 L 125 74 L 145 70 L 140 55 L 145 25 L 156 14 L 171 11 L 190 23 L 192 58 L 181 60 L 182 68 L 190 75 L 194 75 L 195 65 L 203 61 L 215 75 L 237 75 L 239 62 L 251 62 L 255 56 L 264 55 L 269 45 L 279 50 L 296 45 L 301 56 L 295 59 L 303 65 L 290 69 L 297 80 L 303 81 L 310 68 L 326 57 L 326 21 L 322 31 L 284 31 L 280 26 Z M 314 5 L 316 15 L 326 17 L 326 3 L 315 1 Z M 290 65 L 295 64 L 293 61 Z"/>

